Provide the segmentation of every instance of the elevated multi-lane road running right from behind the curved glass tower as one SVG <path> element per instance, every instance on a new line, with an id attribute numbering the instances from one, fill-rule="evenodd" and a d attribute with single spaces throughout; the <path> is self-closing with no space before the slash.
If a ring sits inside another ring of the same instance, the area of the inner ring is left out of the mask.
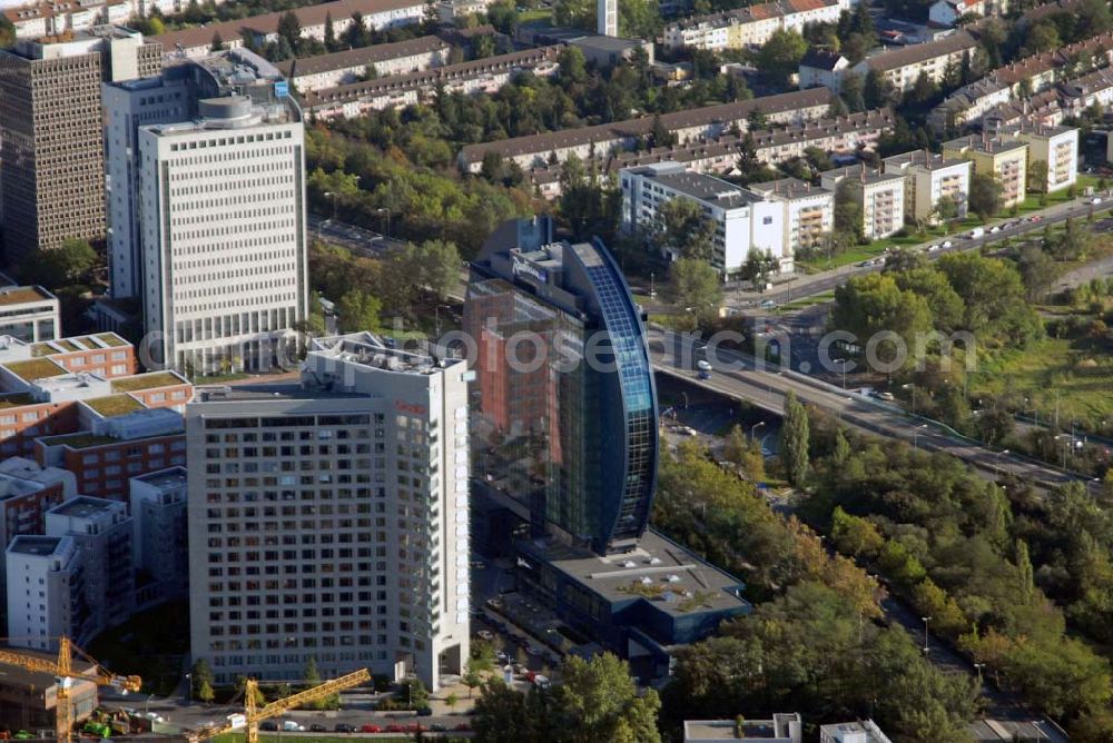
<path id="1" fill-rule="evenodd" d="M 923 449 L 946 452 L 992 476 L 1009 473 L 1018 479 L 1043 486 L 1062 485 L 1072 481 L 1096 486 L 1096 483 L 1082 476 L 1009 453 L 987 449 L 951 433 L 942 424 L 909 416 L 896 406 L 840 390 L 799 373 L 779 371 L 774 365 L 756 368 L 751 356 L 721 347 L 708 349 L 688 336 L 651 330 L 650 353 L 657 370 L 686 378 L 722 395 L 743 399 L 766 410 L 781 413 L 785 396 L 792 390 L 801 402 L 837 416 L 848 426 L 904 440 Z M 713 371 L 709 379 L 697 377 L 693 370 L 696 358 L 706 358 L 711 364 Z"/>

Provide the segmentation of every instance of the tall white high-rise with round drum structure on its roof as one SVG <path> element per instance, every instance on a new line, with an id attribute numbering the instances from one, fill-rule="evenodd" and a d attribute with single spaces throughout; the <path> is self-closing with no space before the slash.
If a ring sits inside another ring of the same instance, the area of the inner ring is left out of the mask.
<path id="1" fill-rule="evenodd" d="M 307 315 L 304 127 L 279 86 L 139 131 L 144 316 L 168 366 L 268 368 Z"/>

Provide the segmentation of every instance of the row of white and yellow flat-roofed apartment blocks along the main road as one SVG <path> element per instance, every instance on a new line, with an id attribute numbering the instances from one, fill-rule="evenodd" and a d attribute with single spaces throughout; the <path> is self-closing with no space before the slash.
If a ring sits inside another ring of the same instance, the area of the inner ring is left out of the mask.
<path id="1" fill-rule="evenodd" d="M 754 251 L 771 255 L 780 270 L 790 271 L 797 252 L 826 244 L 839 192 L 861 206 L 863 235 L 879 239 L 906 224 L 939 221 L 944 200 L 955 216 L 965 216 L 975 174 L 1001 185 L 1005 208 L 1025 199 L 1032 162 L 1046 168 L 1043 190 L 1068 188 L 1077 177 L 1077 147 L 1076 129 L 1027 125 L 946 142 L 942 153 L 894 155 L 877 169 L 836 168 L 819 174 L 819 187 L 785 179 L 743 188 L 681 162 L 637 165 L 619 171 L 622 221 L 628 231 L 652 229 L 663 204 L 690 200 L 716 225 L 711 265 L 721 274 L 738 271 Z"/>

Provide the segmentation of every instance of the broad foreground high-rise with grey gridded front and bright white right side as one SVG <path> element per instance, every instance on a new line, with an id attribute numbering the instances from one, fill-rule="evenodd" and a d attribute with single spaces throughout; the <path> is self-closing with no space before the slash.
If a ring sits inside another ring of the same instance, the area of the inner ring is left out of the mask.
<path id="1" fill-rule="evenodd" d="M 312 341 L 301 384 L 198 388 L 190 645 L 217 683 L 462 671 L 471 375 L 357 334 Z"/>

